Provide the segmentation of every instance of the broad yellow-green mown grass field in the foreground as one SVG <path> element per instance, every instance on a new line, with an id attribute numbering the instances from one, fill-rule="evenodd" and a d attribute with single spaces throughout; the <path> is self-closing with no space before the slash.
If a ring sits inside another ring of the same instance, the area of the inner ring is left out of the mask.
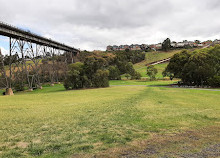
<path id="1" fill-rule="evenodd" d="M 93 155 L 151 139 L 152 134 L 219 125 L 219 95 L 144 86 L 65 91 L 56 85 L 0 96 L 0 157 Z"/>

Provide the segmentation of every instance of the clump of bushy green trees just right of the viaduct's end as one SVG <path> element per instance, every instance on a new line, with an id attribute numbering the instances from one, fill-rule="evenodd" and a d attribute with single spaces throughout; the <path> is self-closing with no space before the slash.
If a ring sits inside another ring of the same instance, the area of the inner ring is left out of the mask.
<path id="1" fill-rule="evenodd" d="M 109 80 L 121 80 L 122 74 L 131 79 L 140 79 L 133 64 L 145 59 L 141 51 L 118 51 L 114 53 L 93 53 L 83 51 L 78 57 L 80 62 L 70 64 L 64 81 L 66 89 L 108 87 Z"/>

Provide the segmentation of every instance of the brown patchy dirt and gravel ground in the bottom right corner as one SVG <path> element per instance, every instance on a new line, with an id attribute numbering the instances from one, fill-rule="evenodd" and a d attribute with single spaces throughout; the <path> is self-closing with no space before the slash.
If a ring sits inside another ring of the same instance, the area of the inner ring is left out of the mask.
<path id="1" fill-rule="evenodd" d="M 210 126 L 181 133 L 155 134 L 149 140 L 135 141 L 124 148 L 115 148 L 93 158 L 218 158 L 220 126 Z"/>

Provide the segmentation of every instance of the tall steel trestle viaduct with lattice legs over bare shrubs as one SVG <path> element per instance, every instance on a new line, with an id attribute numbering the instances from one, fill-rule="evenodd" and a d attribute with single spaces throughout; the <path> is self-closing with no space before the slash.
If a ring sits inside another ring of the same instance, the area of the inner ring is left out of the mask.
<path id="1" fill-rule="evenodd" d="M 0 35 L 9 37 L 8 65 L 0 53 L 0 82 L 6 89 L 53 85 L 63 79 L 67 65 L 79 53 L 73 47 L 4 23 L 0 23 Z"/>

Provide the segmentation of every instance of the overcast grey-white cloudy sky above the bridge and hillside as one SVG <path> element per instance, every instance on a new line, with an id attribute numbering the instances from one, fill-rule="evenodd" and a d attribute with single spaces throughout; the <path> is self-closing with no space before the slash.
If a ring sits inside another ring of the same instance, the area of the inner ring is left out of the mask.
<path id="1" fill-rule="evenodd" d="M 220 39 L 219 15 L 219 0 L 0 0 L 0 21 L 81 50 Z"/>

